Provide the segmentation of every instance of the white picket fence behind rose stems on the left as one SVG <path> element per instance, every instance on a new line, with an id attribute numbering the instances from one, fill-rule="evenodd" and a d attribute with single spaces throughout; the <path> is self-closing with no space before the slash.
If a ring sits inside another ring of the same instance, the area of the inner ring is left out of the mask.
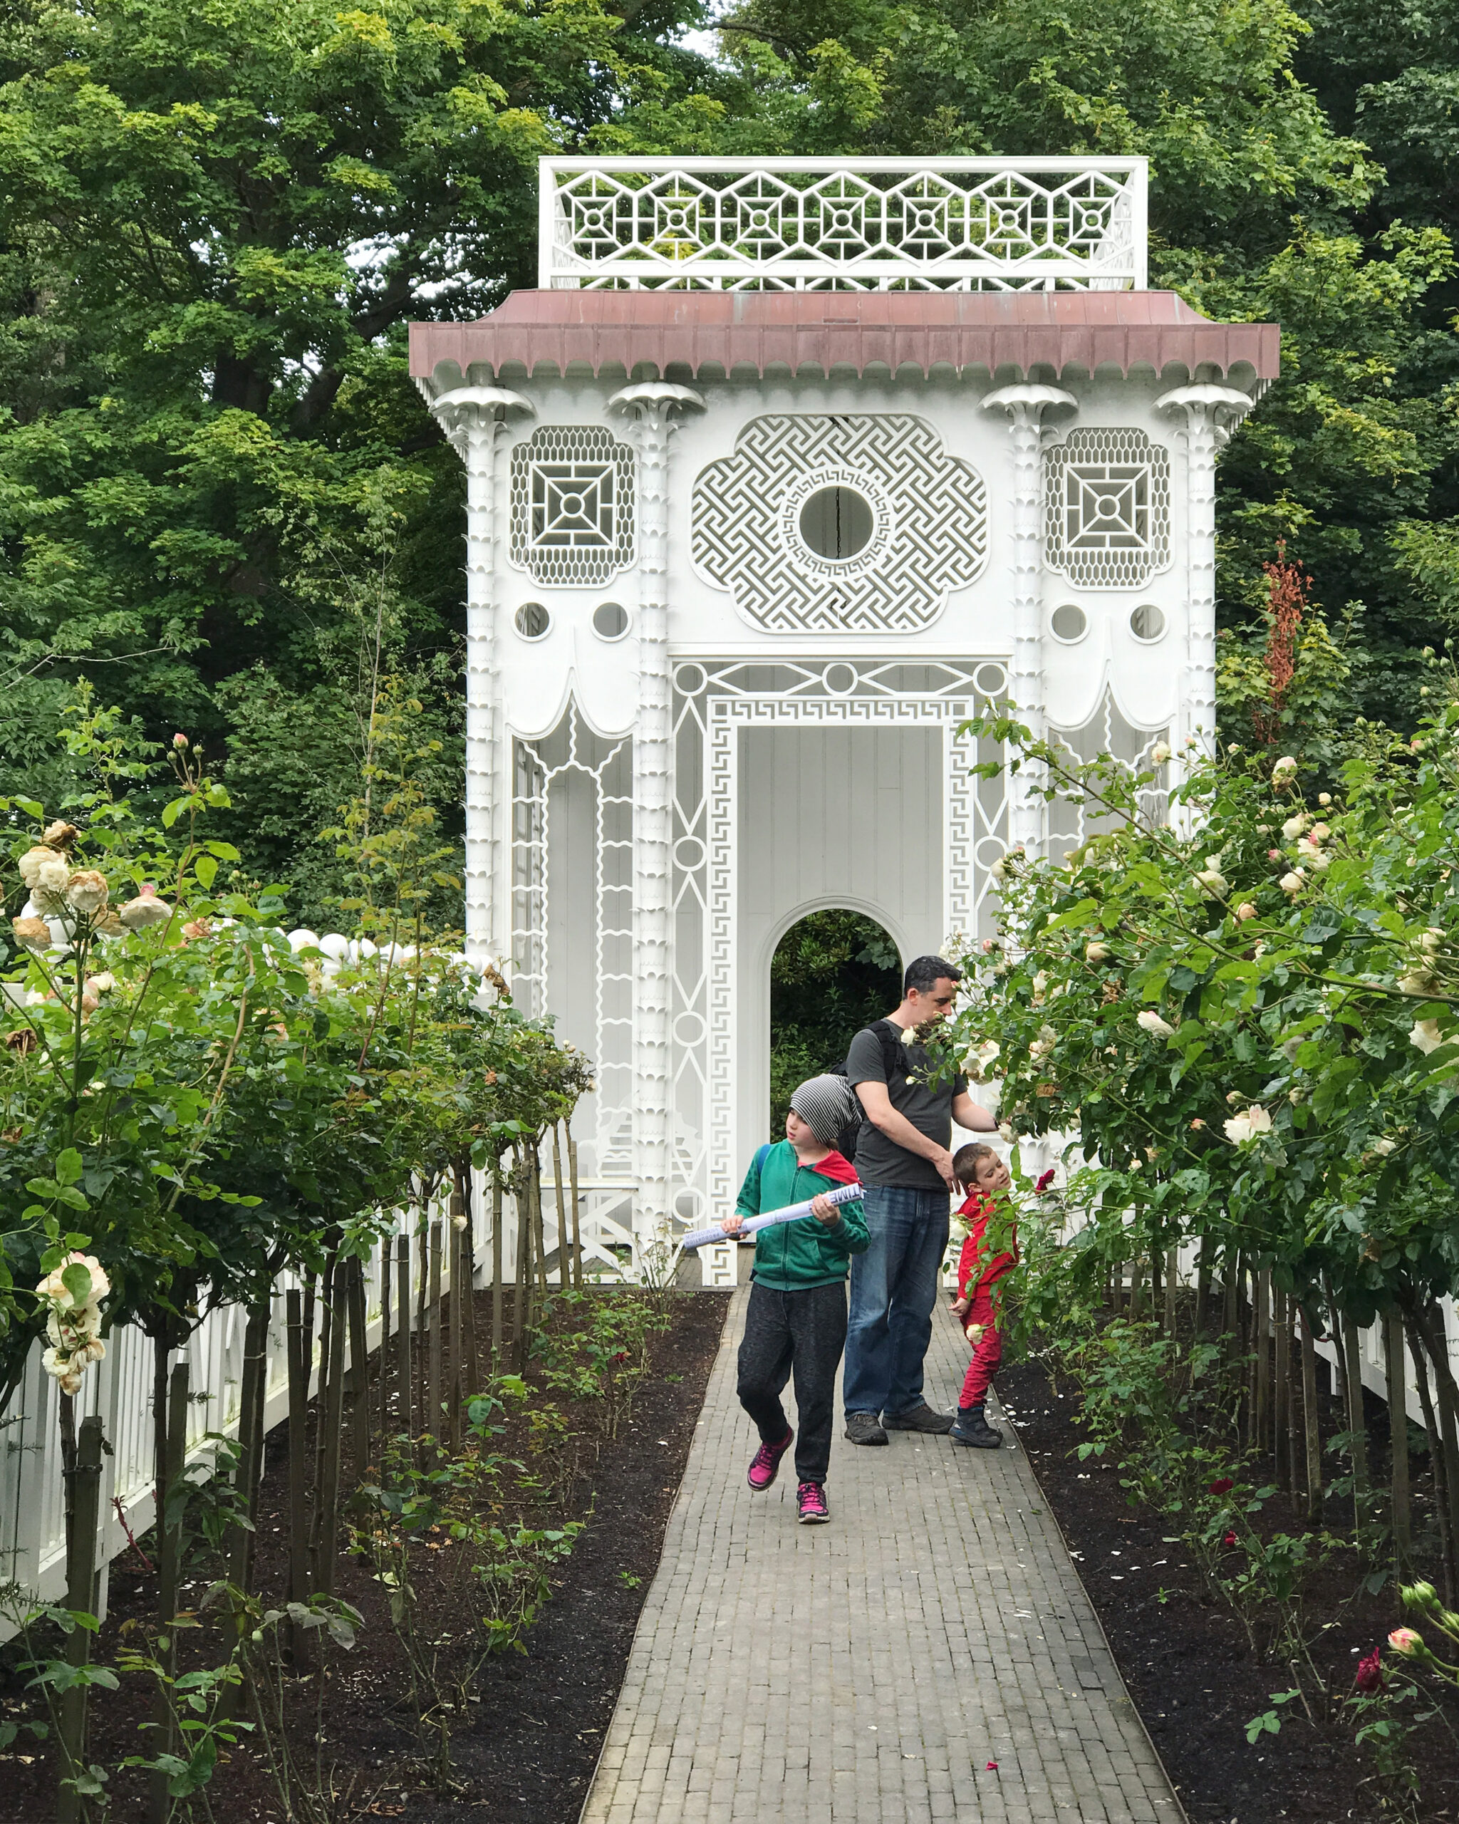
<path id="1" fill-rule="evenodd" d="M 549 1149 L 551 1153 L 551 1149 Z M 549 1166 L 551 1171 L 551 1166 Z M 642 1273 L 638 1246 L 633 1237 L 635 1186 L 618 1180 L 589 1180 L 578 1186 L 580 1235 L 584 1275 L 587 1279 L 633 1280 Z M 567 1207 L 567 1242 L 571 1244 L 571 1200 L 564 1184 Z M 396 1233 L 419 1237 L 421 1224 L 443 1217 L 443 1207 L 410 1211 Z M 543 1238 L 549 1259 L 549 1282 L 558 1284 L 554 1255 L 558 1249 L 556 1184 L 547 1175 L 542 1184 Z M 483 1195 L 478 1175 L 472 1191 L 472 1244 L 478 1288 L 491 1286 L 491 1197 Z M 441 1286 L 450 1290 L 449 1255 L 441 1262 Z M 503 1198 L 502 1218 L 503 1277 L 511 1282 L 516 1259 L 516 1209 L 512 1198 Z M 412 1288 L 418 1286 L 419 1246 L 410 1249 Z M 274 1290 L 274 1319 L 268 1332 L 266 1408 L 264 1428 L 279 1425 L 288 1412 L 288 1355 L 285 1310 L 286 1293 L 299 1280 L 292 1273 L 279 1277 Z M 368 1344 L 379 1342 L 379 1249 L 370 1255 L 365 1270 Z M 401 1321 L 396 1286 L 390 1286 L 390 1328 Z M 405 1313 L 414 1328 L 416 1297 Z M 317 1373 L 317 1337 L 323 1311 L 316 1301 L 314 1361 Z M 208 1463 L 213 1454 L 212 1437 L 235 1437 L 239 1425 L 239 1397 L 243 1381 L 243 1306 L 221 1306 L 193 1332 L 188 1344 L 170 1364 L 188 1361 L 191 1368 L 193 1401 L 188 1412 L 188 1461 Z M 480 1339 L 480 1328 L 478 1328 Z M 481 1344 L 485 1346 L 485 1344 Z M 314 1383 L 312 1383 L 314 1384 Z M 102 1463 L 100 1543 L 98 1563 L 106 1567 L 100 1578 L 100 1601 L 106 1612 L 106 1585 L 111 1560 L 129 1549 L 128 1529 L 140 1538 L 153 1521 L 153 1445 L 151 1445 L 151 1341 L 135 1328 L 115 1332 L 108 1339 L 106 1357 L 89 1368 L 77 1395 L 77 1419 L 100 1414 L 109 1446 Z M 57 1383 L 40 1366 L 40 1344 L 31 1350 L 24 1381 L 0 1415 L 0 1583 L 15 1581 L 42 1601 L 55 1601 L 66 1591 L 66 1523 L 60 1476 Z M 0 1640 L 5 1638 L 0 1623 Z"/>

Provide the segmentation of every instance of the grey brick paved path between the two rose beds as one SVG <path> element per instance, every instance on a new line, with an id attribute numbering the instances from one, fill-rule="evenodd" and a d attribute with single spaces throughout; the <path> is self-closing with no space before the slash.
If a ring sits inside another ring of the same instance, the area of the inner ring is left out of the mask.
<path id="1" fill-rule="evenodd" d="M 746 1297 L 584 1824 L 1182 1824 L 1021 1450 L 837 1425 L 828 1527 L 795 1525 L 790 1459 L 750 1494 Z M 934 1403 L 963 1368 L 939 1322 Z"/>

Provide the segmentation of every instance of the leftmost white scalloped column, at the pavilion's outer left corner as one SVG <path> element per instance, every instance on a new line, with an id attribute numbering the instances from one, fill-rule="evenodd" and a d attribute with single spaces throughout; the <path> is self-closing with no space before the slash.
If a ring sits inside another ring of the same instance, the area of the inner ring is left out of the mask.
<path id="1" fill-rule="evenodd" d="M 536 410 L 503 387 L 456 387 L 430 403 L 467 471 L 467 961 L 511 963 L 500 804 L 511 801 L 496 666 L 496 441 Z"/>

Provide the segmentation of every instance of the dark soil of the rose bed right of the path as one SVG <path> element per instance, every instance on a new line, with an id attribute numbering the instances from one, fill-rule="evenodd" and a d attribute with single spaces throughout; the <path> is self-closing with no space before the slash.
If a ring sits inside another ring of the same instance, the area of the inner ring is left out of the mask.
<path id="1" fill-rule="evenodd" d="M 1003 1368 L 998 1394 L 1191 1824 L 1408 1819 L 1408 1811 L 1382 1808 L 1373 1766 L 1353 1746 L 1351 1722 L 1322 1722 L 1319 1715 L 1313 1724 L 1291 1704 L 1280 1711 L 1280 1735 L 1260 1735 L 1247 1744 L 1247 1722 L 1273 1707 L 1273 1693 L 1295 1685 L 1291 1669 L 1253 1660 L 1240 1620 L 1211 1601 L 1200 1570 L 1171 1541 L 1174 1527 L 1160 1514 L 1131 1508 L 1114 1465 L 1078 1459 L 1083 1432 L 1074 1423 L 1072 1390 L 1061 1395 L 1050 1386 L 1034 1357 Z M 1344 1426 L 1337 1403 L 1322 1404 L 1322 1434 L 1331 1437 Z M 1388 1410 L 1370 1399 L 1368 1417 L 1375 1468 L 1382 1474 Z M 1417 1574 L 1437 1583 L 1437 1570 L 1424 1565 L 1428 1541 L 1421 1516 L 1432 1512 L 1426 1459 L 1415 1456 L 1412 1472 Z M 1333 1498 L 1326 1518 L 1333 1530 L 1350 1530 L 1351 1507 Z M 1286 1498 L 1268 1503 L 1262 1518 L 1268 1536 L 1300 1534 L 1308 1527 Z M 1351 1552 L 1339 1552 L 1309 1585 L 1313 1627 L 1330 1623 L 1313 1645 L 1313 1660 L 1337 1698 L 1353 1689 L 1359 1656 L 1371 1653 L 1401 1620 L 1392 1583 L 1375 1596 L 1355 1594 L 1357 1589 Z M 1423 1798 L 1412 1819 L 1455 1824 L 1459 1747 L 1443 1724 L 1413 1736 L 1413 1760 Z"/>

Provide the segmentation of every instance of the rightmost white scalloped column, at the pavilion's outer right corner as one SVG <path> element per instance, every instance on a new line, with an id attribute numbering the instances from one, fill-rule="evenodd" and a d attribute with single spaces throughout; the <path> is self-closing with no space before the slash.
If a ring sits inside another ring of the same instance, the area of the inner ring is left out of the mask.
<path id="1" fill-rule="evenodd" d="M 1185 414 L 1185 671 L 1174 746 L 1216 744 L 1216 456 L 1257 401 L 1235 387 L 1200 381 L 1156 401 Z"/>

